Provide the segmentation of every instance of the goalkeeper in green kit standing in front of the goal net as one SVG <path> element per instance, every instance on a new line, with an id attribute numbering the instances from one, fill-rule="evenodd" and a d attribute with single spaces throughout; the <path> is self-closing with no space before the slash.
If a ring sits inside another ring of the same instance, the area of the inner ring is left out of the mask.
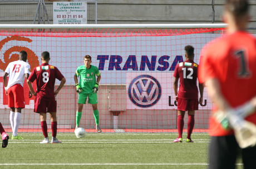
<path id="1" fill-rule="evenodd" d="M 80 119 L 82 116 L 83 104 L 86 104 L 88 98 L 88 104 L 92 105 L 93 115 L 96 122 L 97 132 L 101 132 L 100 129 L 100 117 L 99 110 L 97 107 L 97 90 L 99 89 L 99 82 L 101 79 L 101 74 L 96 66 L 91 65 L 92 60 L 90 55 L 85 55 L 83 58 L 83 63 L 76 69 L 76 74 L 74 75 L 74 80 L 76 83 L 76 92 L 78 93 L 78 107 L 76 111 L 76 129 L 79 127 Z M 96 78 L 97 76 L 97 78 Z M 78 83 L 78 78 L 80 81 Z"/>

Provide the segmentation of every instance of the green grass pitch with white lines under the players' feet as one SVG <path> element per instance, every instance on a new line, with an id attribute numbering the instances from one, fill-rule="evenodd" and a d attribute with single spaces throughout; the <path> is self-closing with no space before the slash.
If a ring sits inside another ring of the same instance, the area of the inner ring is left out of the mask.
<path id="1" fill-rule="evenodd" d="M 42 134 L 20 134 L 1 149 L 0 168 L 207 168 L 209 135 L 192 135 L 194 143 L 173 143 L 175 133 L 58 133 L 62 144 L 40 144 Z M 185 134 L 184 134 L 185 136 Z M 185 137 L 184 137 L 185 138 Z M 51 134 L 49 134 L 51 140 Z M 238 162 L 237 168 L 242 168 Z"/>

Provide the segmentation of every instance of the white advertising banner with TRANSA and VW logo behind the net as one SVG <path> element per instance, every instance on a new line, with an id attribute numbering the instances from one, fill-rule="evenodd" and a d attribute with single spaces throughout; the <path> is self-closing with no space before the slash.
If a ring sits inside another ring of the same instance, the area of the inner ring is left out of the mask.
<path id="1" fill-rule="evenodd" d="M 17 60 L 18 53 L 28 53 L 31 70 L 41 64 L 41 53 L 50 52 L 50 64 L 57 66 L 66 78 L 66 85 L 74 85 L 73 75 L 83 65 L 83 57 L 91 55 L 92 65 L 99 68 L 101 85 L 126 85 L 127 109 L 170 109 L 175 106 L 173 72 L 185 59 L 184 47 L 195 47 L 195 62 L 200 52 L 212 40 L 213 34 L 168 37 L 45 37 L 17 35 L 0 36 L 0 73 L 8 63 Z M 217 36 L 217 35 L 216 35 Z M 1 79 L 1 78 L 0 78 Z M 57 80 L 57 84 L 60 82 Z M 0 89 L 3 91 L 2 80 Z M 26 86 L 26 85 L 24 85 Z M 207 98 L 207 94 L 204 94 Z M 4 93 L 1 93 L 0 103 Z M 209 99 L 209 98 L 208 98 Z M 30 104 L 31 100 L 28 100 Z M 6 103 L 5 103 L 6 104 Z M 5 105 L 4 104 L 4 105 Z M 3 108 L 3 107 L 1 107 Z M 210 109 L 211 105 L 207 106 Z M 204 109 L 204 107 L 200 107 Z"/>

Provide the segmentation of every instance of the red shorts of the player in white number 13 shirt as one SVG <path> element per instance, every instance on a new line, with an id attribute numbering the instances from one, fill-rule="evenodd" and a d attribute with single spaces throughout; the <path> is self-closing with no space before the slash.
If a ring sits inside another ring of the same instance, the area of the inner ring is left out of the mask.
<path id="1" fill-rule="evenodd" d="M 25 98 L 22 85 L 16 84 L 7 90 L 8 107 L 24 108 Z"/>

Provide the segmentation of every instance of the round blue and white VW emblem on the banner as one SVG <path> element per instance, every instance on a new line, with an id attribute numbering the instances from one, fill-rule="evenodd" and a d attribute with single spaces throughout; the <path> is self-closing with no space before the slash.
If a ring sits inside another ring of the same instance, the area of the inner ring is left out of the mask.
<path id="1" fill-rule="evenodd" d="M 161 86 L 156 78 L 140 75 L 134 78 L 128 89 L 129 98 L 136 106 L 151 107 L 161 98 Z"/>

